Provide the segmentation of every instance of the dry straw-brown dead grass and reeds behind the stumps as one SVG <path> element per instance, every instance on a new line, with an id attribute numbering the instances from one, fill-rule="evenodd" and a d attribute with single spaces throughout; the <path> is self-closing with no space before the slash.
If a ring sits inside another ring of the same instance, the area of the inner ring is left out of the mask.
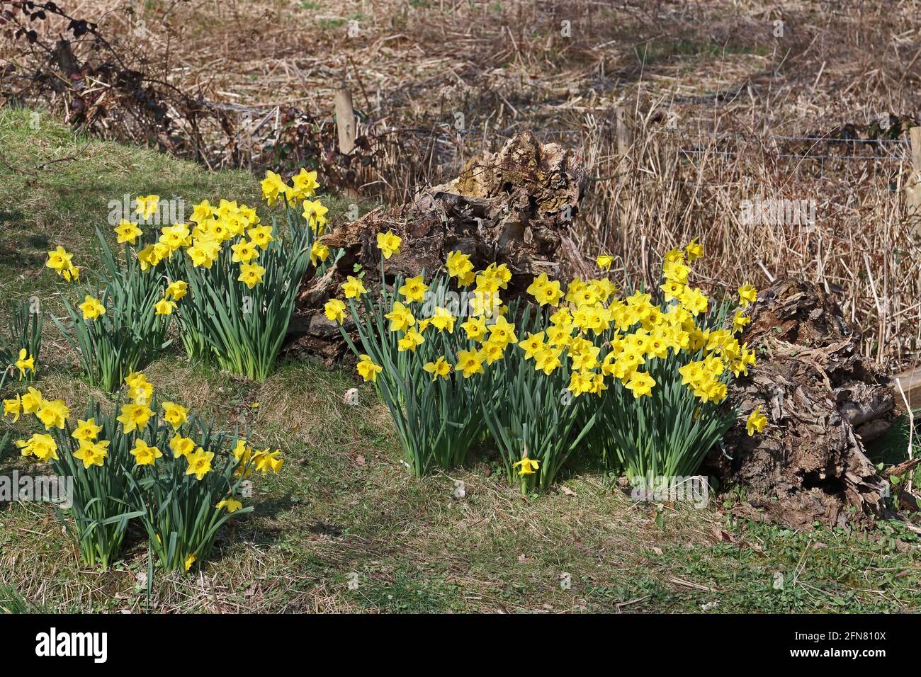
<path id="1" fill-rule="evenodd" d="M 359 133 L 411 139 L 381 140 L 383 165 L 361 170 L 367 192 L 394 201 L 522 129 L 577 148 L 593 179 L 577 219 L 585 254 L 611 250 L 625 274 L 648 275 L 652 251 L 696 237 L 715 286 L 799 276 L 840 287 L 864 351 L 893 369 L 916 360 L 921 338 L 921 248 L 901 193 L 909 166 L 859 148 L 865 158 L 836 159 L 855 146 L 781 137 L 823 136 L 885 112 L 915 116 L 917 9 L 914 0 L 859 9 L 726 0 L 164 0 L 141 14 L 118 0 L 79 6 L 131 46 L 140 70 L 252 120 L 279 106 L 331 113 L 344 79 Z M 618 109 L 632 133 L 625 145 Z M 755 197 L 814 199 L 815 230 L 742 228 L 740 200 Z"/>

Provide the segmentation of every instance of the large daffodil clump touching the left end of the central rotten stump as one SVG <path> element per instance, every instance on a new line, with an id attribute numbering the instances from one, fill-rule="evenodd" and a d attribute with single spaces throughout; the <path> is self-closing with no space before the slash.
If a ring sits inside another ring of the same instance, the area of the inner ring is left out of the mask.
<path id="1" fill-rule="evenodd" d="M 285 206 L 286 224 L 263 223 L 246 204 L 221 199 L 195 204 L 189 224 L 163 228 L 138 252 L 142 266 L 165 262 L 171 285 L 157 311 L 169 314 L 186 293 L 180 334 L 187 354 L 251 379 L 265 379 L 287 333 L 301 280 L 311 266 L 322 272 L 330 249 L 319 240 L 328 208 L 316 196 L 315 171 L 291 183 L 274 171 L 262 180 L 268 206 Z M 134 233 L 130 233 L 134 235 Z M 173 254 L 181 251 L 181 255 Z"/>

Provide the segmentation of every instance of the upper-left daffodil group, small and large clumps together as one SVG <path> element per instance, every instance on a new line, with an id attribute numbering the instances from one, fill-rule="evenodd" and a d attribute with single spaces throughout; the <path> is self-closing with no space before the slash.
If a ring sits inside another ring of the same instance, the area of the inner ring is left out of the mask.
<path id="1" fill-rule="evenodd" d="M 103 272 L 76 308 L 65 301 L 71 322 L 62 325 L 91 384 L 113 391 L 143 368 L 169 345 L 172 320 L 191 359 L 251 379 L 268 376 L 301 281 L 311 266 L 322 273 L 331 255 L 318 239 L 329 209 L 316 195 L 317 173 L 300 169 L 290 181 L 273 171 L 262 181 L 265 202 L 285 205 L 283 226 L 222 198 L 194 204 L 188 222 L 157 228 L 145 222 L 157 214 L 159 196 L 139 195 L 139 220 L 113 228 L 123 263 L 97 229 Z M 68 281 L 79 277 L 62 246 L 48 252 L 46 265 Z"/>

